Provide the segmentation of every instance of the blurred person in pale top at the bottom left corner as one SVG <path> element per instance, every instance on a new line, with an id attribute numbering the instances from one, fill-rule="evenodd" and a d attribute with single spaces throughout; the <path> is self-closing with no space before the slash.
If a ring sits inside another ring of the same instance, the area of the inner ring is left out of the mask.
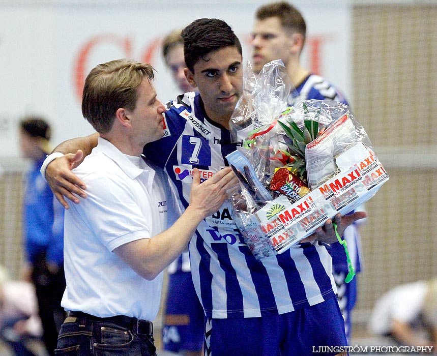
<path id="1" fill-rule="evenodd" d="M 34 286 L 9 280 L 7 271 L 0 266 L 0 339 L 16 356 L 35 356 L 27 341 L 41 336 Z"/>

